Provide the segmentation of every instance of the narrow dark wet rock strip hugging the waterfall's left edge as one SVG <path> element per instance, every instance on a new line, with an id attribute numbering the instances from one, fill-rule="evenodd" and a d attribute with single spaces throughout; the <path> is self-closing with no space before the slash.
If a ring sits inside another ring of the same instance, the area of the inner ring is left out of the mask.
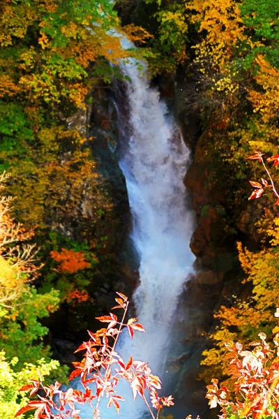
<path id="1" fill-rule="evenodd" d="M 113 205 L 110 219 L 106 219 L 104 214 L 103 223 L 96 228 L 96 235 L 107 237 L 106 251 L 112 254 L 116 263 L 112 266 L 114 291 L 121 289 L 130 295 L 137 281 L 137 260 L 129 238 L 130 207 L 126 181 L 119 168 L 121 135 L 112 90 L 100 88 L 98 91 L 91 111 L 90 126 L 92 154 L 98 162 L 98 173 Z"/>

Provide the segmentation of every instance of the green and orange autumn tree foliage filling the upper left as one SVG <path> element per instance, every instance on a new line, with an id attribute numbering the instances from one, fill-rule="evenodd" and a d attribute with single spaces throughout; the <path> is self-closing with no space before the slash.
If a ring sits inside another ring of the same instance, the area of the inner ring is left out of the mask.
<path id="1" fill-rule="evenodd" d="M 0 170 L 13 175 L 17 217 L 32 228 L 86 219 L 85 193 L 92 222 L 108 210 L 88 130 L 96 90 L 133 54 L 112 29 L 123 31 L 111 1 L 1 1 Z M 139 41 L 149 36 L 127 31 Z"/>

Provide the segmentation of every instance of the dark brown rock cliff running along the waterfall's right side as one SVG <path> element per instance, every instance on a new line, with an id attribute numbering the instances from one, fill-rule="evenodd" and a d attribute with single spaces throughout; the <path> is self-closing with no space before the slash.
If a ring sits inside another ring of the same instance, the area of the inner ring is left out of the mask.
<path id="1" fill-rule="evenodd" d="M 218 155 L 219 140 L 229 147 L 226 126 L 218 126 L 212 119 L 204 121 L 204 115 L 193 100 L 196 87 L 187 68 L 179 71 L 173 89 L 167 90 L 172 91 L 169 100 L 193 153 L 184 182 L 196 214 L 190 247 L 197 256 L 197 272 L 183 294 L 186 351 L 181 358 L 183 373 L 176 399 L 179 406 L 189 406 L 187 413 L 216 418 L 216 413 L 206 411 L 201 402 L 205 387 L 197 383 L 202 371 L 199 362 L 203 349 L 210 344 L 206 335 L 214 325 L 213 312 L 220 304 L 232 304 L 232 295 L 247 292 L 241 285 L 236 242 L 254 249 L 259 245 L 255 219 L 263 213 L 263 206 L 262 203 L 251 205 L 248 192 L 247 196 L 234 194 L 234 189 L 239 191 L 242 185 L 232 170 L 234 166 L 229 167 L 226 156 Z M 165 91 L 164 86 L 162 91 Z M 182 414 L 183 409 L 180 412 Z"/>

